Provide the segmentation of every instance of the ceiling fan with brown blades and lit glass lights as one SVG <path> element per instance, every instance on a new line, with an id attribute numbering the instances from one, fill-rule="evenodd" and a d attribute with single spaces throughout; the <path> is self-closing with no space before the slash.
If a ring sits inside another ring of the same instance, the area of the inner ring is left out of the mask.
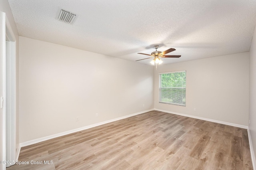
<path id="1" fill-rule="evenodd" d="M 156 51 L 152 52 L 151 55 L 150 54 L 145 54 L 145 53 L 138 53 L 138 54 L 143 54 L 143 55 L 149 55 L 151 57 L 148 57 L 148 58 L 144 58 L 144 59 L 149 59 L 149 58 L 153 58 L 152 61 L 150 61 L 151 64 L 154 64 L 156 63 L 157 64 L 161 64 L 163 61 L 159 58 L 159 57 L 163 57 L 163 58 L 178 58 L 180 57 L 181 55 L 165 55 L 167 53 L 170 53 L 172 51 L 175 51 L 176 49 L 174 48 L 170 48 L 170 49 L 167 49 L 166 51 L 157 51 L 159 45 L 154 45 Z M 143 60 L 143 59 L 138 59 L 136 61 L 140 61 L 140 60 Z"/>

